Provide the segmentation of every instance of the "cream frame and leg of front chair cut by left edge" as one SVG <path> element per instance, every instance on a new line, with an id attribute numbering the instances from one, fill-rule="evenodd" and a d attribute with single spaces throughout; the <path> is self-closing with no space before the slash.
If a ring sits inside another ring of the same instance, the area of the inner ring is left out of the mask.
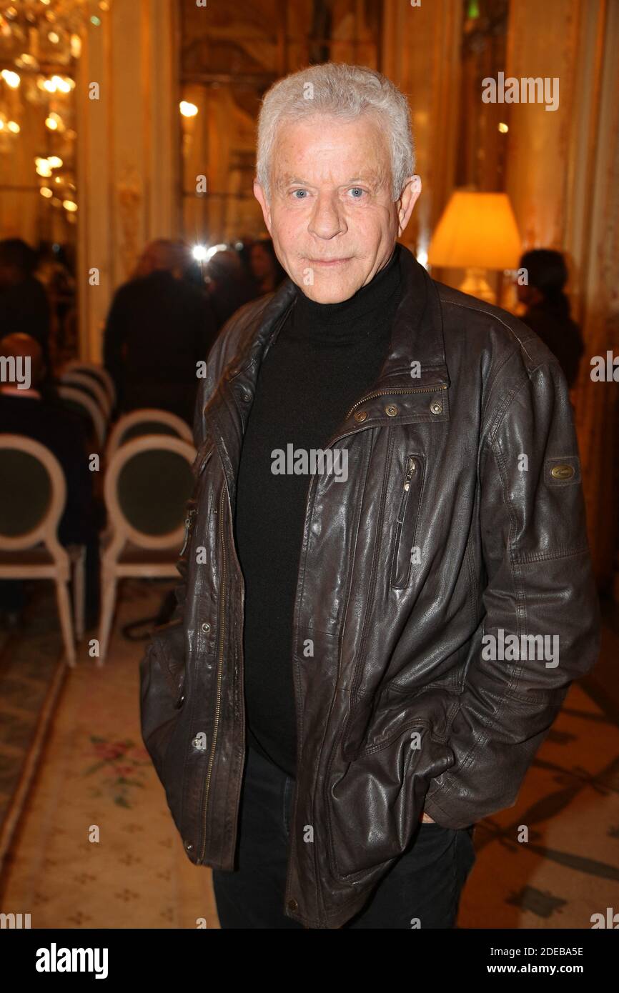
<path id="1" fill-rule="evenodd" d="M 55 581 L 58 611 L 61 619 L 67 660 L 71 666 L 75 666 L 76 644 L 68 590 L 68 584 L 71 578 L 71 558 L 58 540 L 58 524 L 67 500 L 65 474 L 56 456 L 45 445 L 41 445 L 32 438 L 27 438 L 24 435 L 2 434 L 0 435 L 0 449 L 17 449 L 38 459 L 48 472 L 52 493 L 47 512 L 41 518 L 37 527 L 17 537 L 0 535 L 0 578 L 53 579 Z M 22 565 L 18 565 L 16 563 L 5 563 L 2 561 L 3 551 L 31 551 L 41 543 L 46 546 L 52 556 L 52 561 L 49 563 L 41 562 L 33 564 L 24 562 Z M 77 575 L 74 581 L 74 594 L 77 603 L 78 586 L 80 587 L 81 601 L 83 602 L 83 555 L 76 562 L 76 567 Z M 80 575 L 79 569 L 81 569 Z"/>

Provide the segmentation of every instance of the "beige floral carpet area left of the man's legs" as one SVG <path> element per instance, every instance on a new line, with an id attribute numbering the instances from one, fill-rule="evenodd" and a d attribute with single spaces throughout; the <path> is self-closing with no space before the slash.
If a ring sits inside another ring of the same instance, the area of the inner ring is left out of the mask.
<path id="1" fill-rule="evenodd" d="M 155 614 L 167 587 L 121 589 L 107 664 L 95 667 L 82 645 L 67 673 L 5 859 L 0 911 L 30 913 L 32 927 L 218 927 L 211 872 L 185 855 L 140 737 L 144 642 L 119 634 Z"/>

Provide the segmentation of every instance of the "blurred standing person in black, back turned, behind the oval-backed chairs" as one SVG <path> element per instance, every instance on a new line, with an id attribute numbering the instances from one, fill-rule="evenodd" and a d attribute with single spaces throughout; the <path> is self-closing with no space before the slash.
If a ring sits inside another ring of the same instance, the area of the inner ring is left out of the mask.
<path id="1" fill-rule="evenodd" d="M 158 238 L 116 290 L 103 353 L 122 412 L 159 407 L 192 422 L 197 363 L 209 354 L 217 324 L 206 292 L 185 278 L 190 261 L 187 245 Z"/>

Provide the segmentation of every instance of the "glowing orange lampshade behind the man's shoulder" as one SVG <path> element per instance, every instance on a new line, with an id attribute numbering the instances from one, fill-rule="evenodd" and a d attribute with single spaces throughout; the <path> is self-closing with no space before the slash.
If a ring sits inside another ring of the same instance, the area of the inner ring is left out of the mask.
<path id="1" fill-rule="evenodd" d="M 507 194 L 456 191 L 434 231 L 428 262 L 453 269 L 515 269 L 521 249 Z"/>

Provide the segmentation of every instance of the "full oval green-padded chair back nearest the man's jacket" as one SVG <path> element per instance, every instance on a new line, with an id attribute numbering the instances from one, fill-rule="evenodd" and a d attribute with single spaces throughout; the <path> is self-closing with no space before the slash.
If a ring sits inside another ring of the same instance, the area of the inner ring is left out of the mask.
<path id="1" fill-rule="evenodd" d="M 195 458 L 193 445 L 170 435 L 144 435 L 116 450 L 104 484 L 114 545 L 180 547 Z"/>

